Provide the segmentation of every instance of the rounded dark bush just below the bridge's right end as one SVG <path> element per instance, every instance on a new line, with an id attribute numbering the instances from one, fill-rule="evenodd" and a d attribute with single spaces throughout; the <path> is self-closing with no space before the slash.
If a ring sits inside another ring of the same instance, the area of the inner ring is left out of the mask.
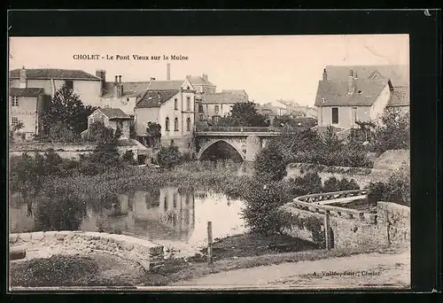
<path id="1" fill-rule="evenodd" d="M 272 145 L 261 149 L 254 162 L 255 176 L 262 182 L 280 181 L 286 175 L 284 157 Z"/>

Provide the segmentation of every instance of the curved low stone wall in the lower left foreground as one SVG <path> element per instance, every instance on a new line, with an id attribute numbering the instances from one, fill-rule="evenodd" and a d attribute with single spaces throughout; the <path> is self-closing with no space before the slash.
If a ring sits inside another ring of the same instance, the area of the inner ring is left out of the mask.
<path id="1" fill-rule="evenodd" d="M 139 263 L 144 269 L 161 267 L 164 263 L 163 246 L 136 237 L 84 231 L 39 231 L 10 234 L 10 247 L 60 247 L 64 252 L 110 253 Z"/>

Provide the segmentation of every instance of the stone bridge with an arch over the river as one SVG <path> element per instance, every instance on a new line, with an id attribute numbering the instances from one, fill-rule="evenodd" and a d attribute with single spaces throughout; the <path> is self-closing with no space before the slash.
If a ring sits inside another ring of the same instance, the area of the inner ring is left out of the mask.
<path id="1" fill-rule="evenodd" d="M 268 127 L 209 127 L 195 132 L 197 159 L 214 144 L 228 144 L 244 161 L 253 161 L 255 155 L 266 146 L 270 137 L 278 136 L 279 128 Z"/>

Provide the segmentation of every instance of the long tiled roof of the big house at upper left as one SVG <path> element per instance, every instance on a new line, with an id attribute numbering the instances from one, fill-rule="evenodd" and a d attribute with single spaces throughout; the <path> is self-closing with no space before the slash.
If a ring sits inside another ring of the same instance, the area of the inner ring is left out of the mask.
<path id="1" fill-rule="evenodd" d="M 36 68 L 26 69 L 27 79 L 82 79 L 82 80 L 97 80 L 95 75 L 88 74 L 78 69 L 59 69 L 59 68 Z M 10 78 L 19 78 L 20 69 L 13 69 L 9 72 Z"/>

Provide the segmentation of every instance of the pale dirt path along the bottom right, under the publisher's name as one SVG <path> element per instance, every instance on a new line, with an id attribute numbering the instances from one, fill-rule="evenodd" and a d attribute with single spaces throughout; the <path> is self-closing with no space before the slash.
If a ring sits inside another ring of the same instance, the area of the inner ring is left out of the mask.
<path id="1" fill-rule="evenodd" d="M 237 269 L 177 283 L 198 289 L 408 287 L 410 253 L 369 253 Z"/>

